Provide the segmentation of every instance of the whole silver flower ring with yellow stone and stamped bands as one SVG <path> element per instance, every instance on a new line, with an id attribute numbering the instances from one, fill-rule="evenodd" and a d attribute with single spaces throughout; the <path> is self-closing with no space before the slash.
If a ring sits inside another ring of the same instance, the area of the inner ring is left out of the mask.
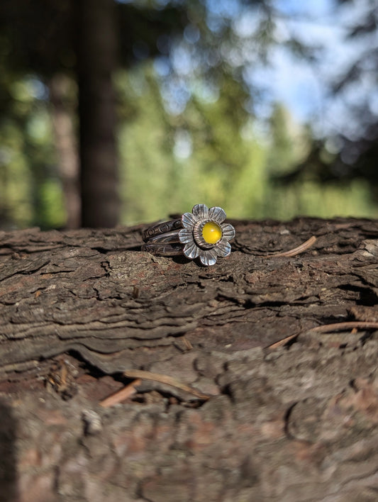
<path id="1" fill-rule="evenodd" d="M 191 213 L 144 230 L 142 250 L 157 256 L 183 254 L 189 260 L 199 257 L 206 267 L 216 264 L 218 257 L 230 255 L 229 241 L 235 237 L 235 228 L 225 220 L 222 208 L 196 204 Z"/>

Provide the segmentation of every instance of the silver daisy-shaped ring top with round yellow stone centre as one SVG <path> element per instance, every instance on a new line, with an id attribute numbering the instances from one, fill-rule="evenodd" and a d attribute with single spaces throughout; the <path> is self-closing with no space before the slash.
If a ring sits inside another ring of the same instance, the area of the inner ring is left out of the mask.
<path id="1" fill-rule="evenodd" d="M 196 204 L 191 213 L 184 213 L 181 217 L 184 228 L 179 230 L 184 255 L 190 260 L 199 257 L 206 266 L 216 264 L 218 256 L 228 256 L 231 252 L 228 241 L 235 237 L 235 228 L 223 223 L 225 220 L 222 208 L 208 208 L 205 204 Z"/>

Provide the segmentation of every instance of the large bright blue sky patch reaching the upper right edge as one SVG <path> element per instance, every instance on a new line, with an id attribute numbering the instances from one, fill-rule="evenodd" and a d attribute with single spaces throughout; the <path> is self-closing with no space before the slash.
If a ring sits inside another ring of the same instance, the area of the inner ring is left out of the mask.
<path id="1" fill-rule="evenodd" d="M 367 75 L 338 97 L 329 95 L 328 84 L 366 49 L 366 40 L 345 40 L 345 35 L 369 9 L 369 0 L 341 9 L 335 9 L 333 0 L 277 0 L 276 5 L 287 14 L 282 37 L 294 33 L 304 43 L 321 45 L 321 59 L 309 65 L 277 48 L 272 67 L 260 69 L 257 79 L 272 82 L 273 99 L 286 104 L 297 121 L 311 121 L 318 135 L 342 131 L 352 138 L 357 134 L 350 116 L 352 106 L 368 101 L 372 112 L 378 113 L 375 79 Z"/>

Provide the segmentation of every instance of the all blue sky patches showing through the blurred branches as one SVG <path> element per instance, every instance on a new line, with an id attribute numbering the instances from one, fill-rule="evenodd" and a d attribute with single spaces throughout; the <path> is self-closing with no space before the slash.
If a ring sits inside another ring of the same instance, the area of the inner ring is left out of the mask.
<path id="1" fill-rule="evenodd" d="M 365 40 L 345 41 L 345 35 L 348 27 L 353 26 L 365 9 L 371 7 L 370 0 L 348 2 L 338 8 L 335 0 L 272 0 L 279 16 L 274 30 L 277 45 L 270 52 L 269 65 L 259 62 L 253 45 L 248 42 L 250 35 L 260 26 L 262 18 L 258 7 L 243 7 L 234 0 L 206 0 L 206 4 L 209 9 L 206 22 L 215 34 L 218 30 L 221 33 L 223 17 L 226 17 L 232 21 L 233 30 L 240 40 L 245 40 L 244 45 L 227 45 L 226 41 L 223 51 L 220 36 L 220 53 L 231 65 L 245 67 L 245 82 L 250 85 L 254 111 L 260 118 L 267 118 L 274 101 L 279 101 L 289 108 L 295 121 L 311 122 L 319 136 L 342 131 L 352 137 L 355 134 L 355 125 L 350 117 L 353 105 L 368 100 L 372 111 L 378 113 L 377 86 L 372 79 L 369 81 L 367 78 L 354 87 L 350 86 L 338 98 L 329 93 L 329 84 L 335 82 L 353 60 L 358 59 L 363 44 L 366 45 Z M 290 54 L 284 45 L 293 36 L 304 45 L 318 48 L 318 59 L 310 63 Z M 161 57 L 155 63 L 164 81 L 162 94 L 172 113 L 183 111 L 194 90 L 191 76 L 199 64 L 195 51 L 198 37 L 195 27 L 191 30 L 189 26 L 184 33 L 184 42 L 174 47 L 170 59 Z M 170 73 L 171 65 L 176 77 Z M 253 99 L 256 85 L 265 89 L 264 99 Z M 210 84 L 208 88 L 204 84 L 202 87 L 200 91 L 207 93 L 207 99 L 216 99 L 216 89 L 212 89 Z"/>

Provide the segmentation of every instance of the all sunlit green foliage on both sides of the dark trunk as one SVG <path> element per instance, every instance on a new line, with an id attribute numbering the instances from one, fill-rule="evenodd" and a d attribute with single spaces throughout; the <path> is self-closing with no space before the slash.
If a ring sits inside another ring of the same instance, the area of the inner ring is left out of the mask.
<path id="1" fill-rule="evenodd" d="M 48 106 L 16 81 L 13 119 L 0 123 L 1 225 L 64 226 Z M 150 65 L 118 74 L 122 222 L 154 221 L 195 203 L 223 206 L 231 218 L 377 216 L 367 183 L 284 186 L 311 146 L 308 130 L 279 104 L 269 128 L 240 112 L 245 91 L 223 82 L 218 99 L 194 96 L 183 113 L 165 111 Z"/>

